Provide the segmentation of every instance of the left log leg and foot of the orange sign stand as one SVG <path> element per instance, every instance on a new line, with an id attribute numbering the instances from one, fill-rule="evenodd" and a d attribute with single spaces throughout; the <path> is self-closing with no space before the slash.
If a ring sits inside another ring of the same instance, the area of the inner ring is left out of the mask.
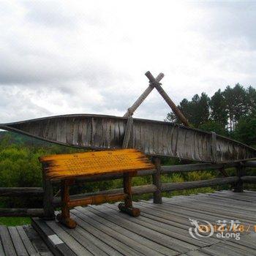
<path id="1" fill-rule="evenodd" d="M 61 214 L 57 215 L 59 222 L 69 228 L 75 228 L 77 223 L 70 218 L 69 214 L 69 181 L 61 181 Z"/>

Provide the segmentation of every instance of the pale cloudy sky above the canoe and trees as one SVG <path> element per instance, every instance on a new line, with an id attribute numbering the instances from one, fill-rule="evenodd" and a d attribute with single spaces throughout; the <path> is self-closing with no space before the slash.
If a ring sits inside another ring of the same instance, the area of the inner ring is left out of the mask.
<path id="1" fill-rule="evenodd" d="M 256 2 L 0 1 L 0 123 L 67 113 L 123 116 L 165 74 L 176 104 L 256 84 Z M 152 91 L 136 117 L 169 111 Z"/>

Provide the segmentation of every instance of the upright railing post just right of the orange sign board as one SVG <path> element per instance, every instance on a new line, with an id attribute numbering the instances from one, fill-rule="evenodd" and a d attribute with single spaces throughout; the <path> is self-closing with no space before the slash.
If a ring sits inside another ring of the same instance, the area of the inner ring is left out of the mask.
<path id="1" fill-rule="evenodd" d="M 153 184 L 157 187 L 157 191 L 154 192 L 153 201 L 154 203 L 162 203 L 160 157 L 153 157 L 152 162 L 156 166 L 156 173 L 152 175 L 152 181 L 153 181 Z"/>

